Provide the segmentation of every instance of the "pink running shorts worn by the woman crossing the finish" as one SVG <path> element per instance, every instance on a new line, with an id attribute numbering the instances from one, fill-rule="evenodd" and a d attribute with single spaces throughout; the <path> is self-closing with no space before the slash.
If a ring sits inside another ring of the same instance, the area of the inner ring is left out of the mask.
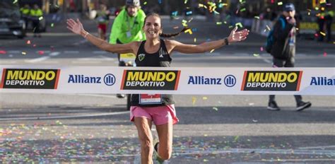
<path id="1" fill-rule="evenodd" d="M 175 105 L 165 105 L 160 107 L 130 107 L 130 121 L 134 122 L 134 117 L 143 117 L 153 120 L 155 125 L 166 124 L 172 121 L 177 124 L 179 119 L 176 116 Z"/>

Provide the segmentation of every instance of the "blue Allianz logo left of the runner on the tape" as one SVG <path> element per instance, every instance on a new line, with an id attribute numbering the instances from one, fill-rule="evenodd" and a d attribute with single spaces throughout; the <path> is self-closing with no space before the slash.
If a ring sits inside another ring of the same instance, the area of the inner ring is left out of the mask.
<path id="1" fill-rule="evenodd" d="M 105 83 L 106 86 L 113 86 L 116 78 L 113 74 L 106 74 L 103 78 L 100 76 L 86 76 L 82 74 L 70 74 L 68 83 Z"/>

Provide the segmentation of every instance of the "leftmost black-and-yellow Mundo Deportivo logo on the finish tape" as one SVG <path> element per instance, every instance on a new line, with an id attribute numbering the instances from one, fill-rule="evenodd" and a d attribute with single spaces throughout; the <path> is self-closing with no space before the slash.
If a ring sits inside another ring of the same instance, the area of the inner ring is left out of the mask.
<path id="1" fill-rule="evenodd" d="M 4 69 L 0 88 L 57 89 L 60 69 Z"/>

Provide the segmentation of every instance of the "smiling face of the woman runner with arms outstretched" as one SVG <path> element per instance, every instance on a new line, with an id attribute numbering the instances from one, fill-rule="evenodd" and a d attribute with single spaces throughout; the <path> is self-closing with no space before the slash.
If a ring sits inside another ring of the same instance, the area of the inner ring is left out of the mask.
<path id="1" fill-rule="evenodd" d="M 158 16 L 148 16 L 144 23 L 143 30 L 146 33 L 147 39 L 158 38 L 162 33 L 160 18 Z"/>

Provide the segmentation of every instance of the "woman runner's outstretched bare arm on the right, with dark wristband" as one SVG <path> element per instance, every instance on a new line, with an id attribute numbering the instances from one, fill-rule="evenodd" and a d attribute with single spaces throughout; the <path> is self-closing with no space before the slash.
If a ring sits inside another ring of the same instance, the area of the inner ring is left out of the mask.
<path id="1" fill-rule="evenodd" d="M 236 31 L 237 27 L 235 27 L 228 37 L 222 40 L 216 40 L 212 42 L 205 42 L 201 45 L 187 45 L 183 44 L 181 42 L 177 42 L 175 40 L 170 40 L 170 45 L 172 47 L 172 51 L 181 52 L 184 54 L 194 54 L 194 53 L 203 53 L 211 51 L 212 49 L 218 49 L 220 47 L 223 47 L 227 44 L 233 43 L 233 42 L 240 42 L 245 39 L 247 39 L 247 35 L 249 35 L 249 30 L 240 30 Z"/>

